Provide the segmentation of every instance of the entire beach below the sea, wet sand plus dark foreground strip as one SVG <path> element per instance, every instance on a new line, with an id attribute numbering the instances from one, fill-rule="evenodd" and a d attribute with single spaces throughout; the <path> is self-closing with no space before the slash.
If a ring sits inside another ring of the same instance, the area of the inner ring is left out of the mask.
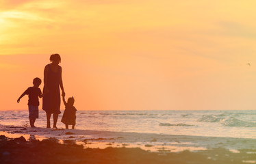
<path id="1" fill-rule="evenodd" d="M 17 126 L 0 134 L 1 163 L 256 163 L 256 139 Z"/>

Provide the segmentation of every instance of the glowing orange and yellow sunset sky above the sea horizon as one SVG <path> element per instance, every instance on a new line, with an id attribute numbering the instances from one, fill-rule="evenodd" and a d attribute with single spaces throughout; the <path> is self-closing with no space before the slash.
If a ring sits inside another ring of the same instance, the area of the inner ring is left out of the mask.
<path id="1" fill-rule="evenodd" d="M 78 110 L 256 109 L 255 6 L 0 0 L 0 110 L 27 109 L 52 53 Z"/>

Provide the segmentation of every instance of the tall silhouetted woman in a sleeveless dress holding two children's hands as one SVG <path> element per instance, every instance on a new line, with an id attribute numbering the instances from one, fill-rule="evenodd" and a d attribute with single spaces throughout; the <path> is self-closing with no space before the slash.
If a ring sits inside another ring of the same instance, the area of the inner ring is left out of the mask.
<path id="1" fill-rule="evenodd" d="M 60 55 L 53 54 L 50 57 L 51 64 L 44 68 L 44 90 L 42 98 L 42 109 L 47 113 L 47 128 L 51 128 L 50 118 L 53 113 L 53 128 L 57 128 L 57 117 L 60 114 L 60 88 L 62 96 L 65 96 L 62 83 L 62 67 Z"/>

